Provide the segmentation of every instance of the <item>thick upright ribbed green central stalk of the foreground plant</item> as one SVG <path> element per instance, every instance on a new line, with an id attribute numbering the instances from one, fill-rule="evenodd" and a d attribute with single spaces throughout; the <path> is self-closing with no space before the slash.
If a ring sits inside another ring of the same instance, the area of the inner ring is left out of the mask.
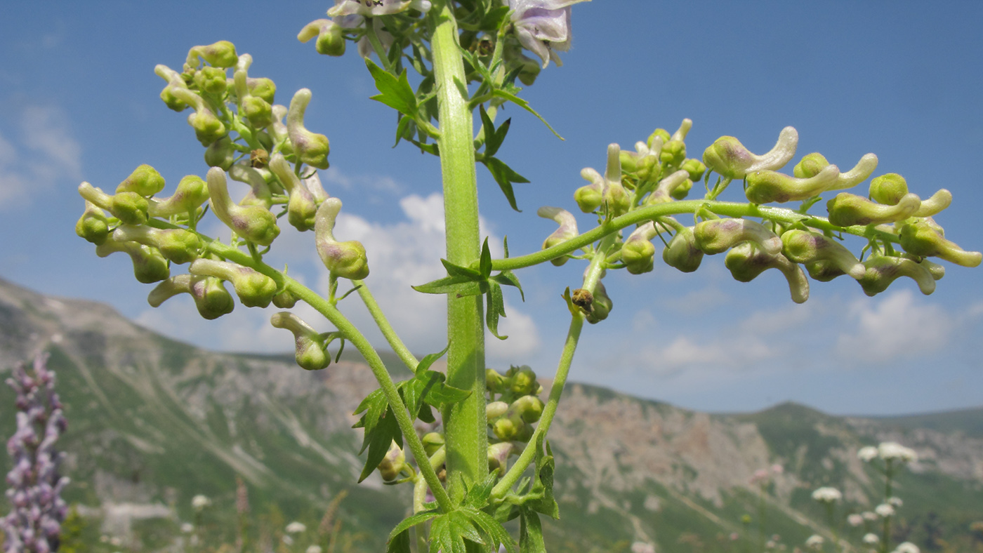
<path id="1" fill-rule="evenodd" d="M 434 77 L 443 175 L 447 260 L 468 265 L 478 259 L 478 189 L 475 180 L 474 125 L 467 98 L 464 63 L 457 44 L 457 22 L 447 2 L 434 2 Z M 460 500 L 462 484 L 488 474 L 488 431 L 485 417 L 485 314 L 481 296 L 447 296 L 447 383 L 471 390 L 468 399 L 443 411 L 450 496 Z"/>

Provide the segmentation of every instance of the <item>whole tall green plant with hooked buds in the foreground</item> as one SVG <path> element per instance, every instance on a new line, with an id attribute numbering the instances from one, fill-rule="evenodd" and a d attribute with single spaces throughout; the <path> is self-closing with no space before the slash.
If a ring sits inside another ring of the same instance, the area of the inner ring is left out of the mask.
<path id="1" fill-rule="evenodd" d="M 189 294 L 202 317 L 213 319 L 237 303 L 274 304 L 284 310 L 270 322 L 292 334 L 301 367 L 324 368 L 346 345 L 368 361 L 379 388 L 357 411 L 361 478 L 378 470 L 414 492 L 413 514 L 393 528 L 390 551 L 545 550 L 540 517 L 558 516 L 547 434 L 585 323 L 603 323 L 614 306 L 604 284 L 609 272 L 649 272 L 660 249 L 663 261 L 682 272 L 723 253 L 738 281 L 780 271 L 800 304 L 809 298 L 810 279 L 852 279 L 873 296 L 907 277 L 931 294 L 945 272 L 939 259 L 980 263 L 979 252 L 960 249 L 933 219 L 952 194 L 919 191 L 923 199 L 909 192 L 900 175 L 878 172 L 874 154 L 842 170 L 821 153 L 793 163 L 798 133 L 790 127 L 776 130 L 775 147 L 766 152 L 722 137 L 701 153 L 686 143 L 689 119 L 639 137 L 631 148 L 607 146 L 604 167 L 581 170 L 586 184 L 539 210 L 557 224 L 543 249 L 510 255 L 503 244 L 504 256 L 492 257 L 479 231 L 478 166 L 517 209 L 513 185 L 526 179 L 499 157 L 509 133 L 500 108 L 511 103 L 540 117 L 521 85 L 533 85 L 550 63 L 570 55 L 564 52 L 577 3 L 336 0 L 327 18 L 298 25 L 297 38 L 327 56 L 345 55 L 354 42 L 378 90 L 373 99 L 396 112 L 397 143 L 439 157 L 446 275 L 415 289 L 446 297 L 442 352 L 423 359 L 411 353 L 373 297 L 376 253 L 336 232 L 343 198 L 318 179 L 328 167 L 328 138 L 305 123 L 308 105 L 326 101 L 329 91 L 301 88 L 285 99 L 271 80 L 250 73 L 253 58 L 228 41 L 194 46 L 180 66 L 154 70 L 164 82 L 164 104 L 188 114 L 206 173 L 169 176 L 178 181 L 169 194 L 164 176 L 147 165 L 115 191 L 79 188 L 85 211 L 78 234 L 100 256 L 130 255 L 137 279 L 158 283 L 151 305 Z M 415 84 L 411 71 L 419 76 Z M 229 179 L 249 193 L 231 197 Z M 869 189 L 846 192 L 868 180 Z M 595 216 L 596 226 L 579 229 L 571 213 L 577 209 Z M 209 211 L 231 231 L 230 240 L 202 234 Z M 329 275 L 323 296 L 264 261 L 284 224 L 311 232 Z M 506 338 L 498 332 L 503 287 L 521 296 L 520 269 L 548 262 L 578 262 L 584 271 L 580 286 L 562 295 L 569 329 L 544 402 L 530 367 L 500 373 L 486 366 L 485 336 L 487 329 Z M 323 318 L 289 311 L 299 302 Z M 346 316 L 352 302 L 366 305 L 412 378 L 393 380 Z M 443 356 L 446 373 L 431 368 Z M 417 419 L 439 424 L 420 435 Z M 503 526 L 516 519 L 518 540 Z"/>

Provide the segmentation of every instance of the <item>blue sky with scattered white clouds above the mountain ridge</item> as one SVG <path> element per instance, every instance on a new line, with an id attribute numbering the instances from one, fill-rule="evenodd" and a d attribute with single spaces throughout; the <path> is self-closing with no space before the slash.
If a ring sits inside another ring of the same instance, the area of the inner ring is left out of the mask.
<path id="1" fill-rule="evenodd" d="M 433 157 L 391 148 L 394 115 L 354 48 L 319 56 L 296 34 L 328 4 L 290 2 L 35 1 L 5 7 L 0 21 L 0 277 L 46 294 L 97 300 L 172 337 L 215 350 L 288 351 L 269 312 L 247 309 L 203 321 L 190 300 L 158 309 L 151 286 L 121 254 L 98 258 L 75 236 L 83 180 L 114 189 L 137 165 L 173 186 L 203 176 L 202 147 L 184 114 L 158 99 L 162 63 L 180 68 L 191 46 L 225 39 L 254 57 L 251 76 L 277 84 L 277 101 L 309 87 L 307 126 L 331 140 L 321 180 L 345 202 L 338 236 L 369 249 L 369 285 L 414 351 L 440 350 L 443 305 L 408 286 L 440 276 L 439 172 Z M 107 15 L 109 14 L 109 15 Z M 573 48 L 523 94 L 565 141 L 531 116 L 506 110 L 502 159 L 532 181 L 516 213 L 479 168 L 484 230 L 513 254 L 539 249 L 554 224 L 541 205 L 575 210 L 580 169 L 603 170 L 607 144 L 631 148 L 657 127 L 693 120 L 689 155 L 715 138 L 751 150 L 781 128 L 803 154 L 841 168 L 880 158 L 923 197 L 940 188 L 954 205 L 936 219 L 964 249 L 983 249 L 973 205 L 983 203 L 983 4 L 937 2 L 702 2 L 595 0 L 573 10 Z M 168 189 L 170 190 L 170 189 Z M 723 199 L 740 200 L 739 187 Z M 866 184 L 858 187 L 865 194 Z M 732 193 L 732 194 L 731 194 Z M 165 192 L 165 194 L 168 194 Z M 435 195 L 437 194 L 437 195 Z M 820 209 L 822 209 L 820 207 Z M 580 217 L 582 229 L 591 227 Z M 205 227 L 216 233 L 220 224 Z M 286 226 L 285 226 L 286 227 Z M 289 228 L 287 228 L 289 229 Z M 311 286 L 326 280 L 313 237 L 284 230 L 269 259 L 289 262 Z M 861 245 L 848 246 L 859 252 Z M 567 318 L 559 294 L 582 266 L 519 274 L 526 303 L 506 297 L 489 364 L 530 364 L 549 375 Z M 983 273 L 947 264 L 930 297 L 898 281 L 876 298 L 842 277 L 812 283 L 792 304 L 781 275 L 734 282 L 723 255 L 682 274 L 657 262 L 640 276 L 611 274 L 611 316 L 586 329 L 572 378 L 712 412 L 751 411 L 791 400 L 835 414 L 897 414 L 983 405 Z M 367 328 L 357 300 L 344 305 Z M 328 330 L 310 313 L 315 327 Z M 372 332 L 369 332 L 373 335 Z M 381 343 L 381 342 L 379 342 Z"/>

